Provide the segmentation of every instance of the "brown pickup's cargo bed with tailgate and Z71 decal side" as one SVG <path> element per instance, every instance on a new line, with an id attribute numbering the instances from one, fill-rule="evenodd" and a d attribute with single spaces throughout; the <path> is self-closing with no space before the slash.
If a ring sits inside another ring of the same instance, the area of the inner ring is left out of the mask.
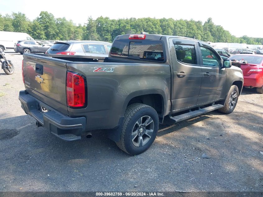
<path id="1" fill-rule="evenodd" d="M 114 58 L 53 54 L 23 56 L 26 92 L 64 115 L 85 117 L 89 130 L 118 126 L 129 100 L 142 92 L 151 94 L 157 91 L 165 98 L 163 105 L 171 105 L 168 64 L 134 63 L 134 60 L 117 62 Z M 43 73 L 39 73 L 41 69 L 38 67 L 43 68 Z M 87 79 L 87 107 L 84 109 L 67 106 L 66 75 L 69 71 Z M 163 113 L 167 115 L 169 112 Z M 100 128 L 97 128 L 98 122 L 101 122 Z"/>

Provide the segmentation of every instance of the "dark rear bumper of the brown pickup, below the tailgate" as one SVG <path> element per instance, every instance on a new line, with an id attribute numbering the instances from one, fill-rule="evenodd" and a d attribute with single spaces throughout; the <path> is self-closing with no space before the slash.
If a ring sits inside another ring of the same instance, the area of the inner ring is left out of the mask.
<path id="1" fill-rule="evenodd" d="M 70 118 L 63 115 L 24 90 L 19 92 L 19 100 L 22 109 L 26 114 L 35 118 L 38 125 L 45 127 L 50 133 L 65 141 L 80 140 L 81 135 L 85 132 L 85 117 Z M 47 109 L 47 112 L 43 112 L 41 107 Z"/>

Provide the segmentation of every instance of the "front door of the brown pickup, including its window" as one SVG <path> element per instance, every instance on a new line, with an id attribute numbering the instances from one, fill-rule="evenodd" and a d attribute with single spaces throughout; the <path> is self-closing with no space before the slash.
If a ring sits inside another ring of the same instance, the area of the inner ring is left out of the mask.
<path id="1" fill-rule="evenodd" d="M 226 80 L 226 69 L 216 51 L 209 45 L 200 44 L 200 64 L 202 68 L 202 85 L 197 104 L 220 99 Z"/>

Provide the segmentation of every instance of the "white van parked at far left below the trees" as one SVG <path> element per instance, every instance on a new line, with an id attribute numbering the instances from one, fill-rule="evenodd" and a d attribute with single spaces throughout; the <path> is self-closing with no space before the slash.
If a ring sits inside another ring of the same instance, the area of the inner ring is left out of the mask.
<path id="1" fill-rule="evenodd" d="M 34 40 L 27 33 L 0 31 L 0 51 L 14 49 L 18 40 Z"/>

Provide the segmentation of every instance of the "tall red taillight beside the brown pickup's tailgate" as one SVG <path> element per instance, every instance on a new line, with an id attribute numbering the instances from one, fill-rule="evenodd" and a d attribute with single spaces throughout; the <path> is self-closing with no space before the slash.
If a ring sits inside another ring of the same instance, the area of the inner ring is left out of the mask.
<path id="1" fill-rule="evenodd" d="M 66 79 L 67 105 L 69 107 L 84 107 L 86 104 L 85 79 L 82 75 L 67 72 Z"/>

